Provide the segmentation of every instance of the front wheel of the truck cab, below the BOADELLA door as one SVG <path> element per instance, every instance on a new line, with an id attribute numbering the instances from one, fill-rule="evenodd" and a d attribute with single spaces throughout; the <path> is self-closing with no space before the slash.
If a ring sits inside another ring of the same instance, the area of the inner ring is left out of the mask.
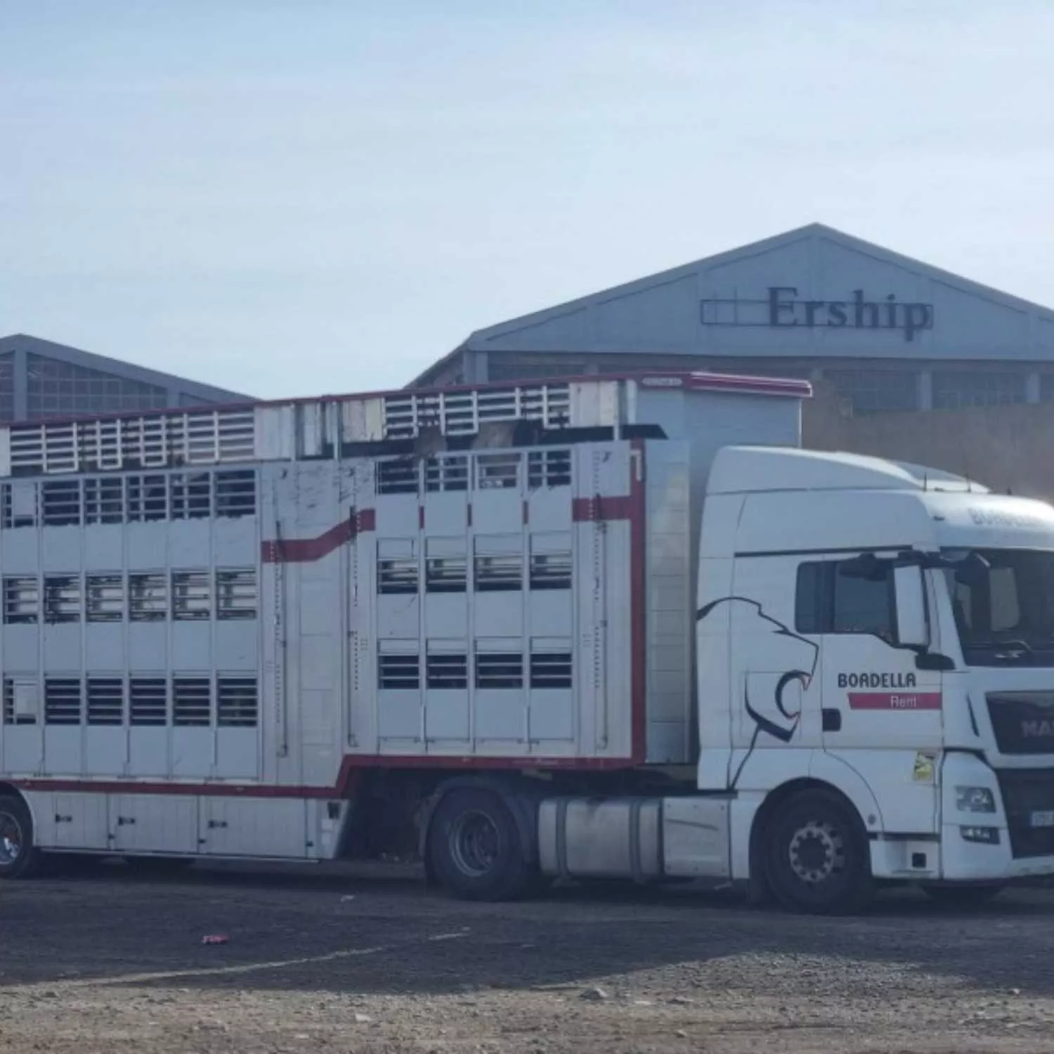
<path id="1" fill-rule="evenodd" d="M 763 837 L 768 887 L 787 911 L 850 915 L 874 897 L 867 833 L 840 794 L 794 795 L 777 806 Z"/>

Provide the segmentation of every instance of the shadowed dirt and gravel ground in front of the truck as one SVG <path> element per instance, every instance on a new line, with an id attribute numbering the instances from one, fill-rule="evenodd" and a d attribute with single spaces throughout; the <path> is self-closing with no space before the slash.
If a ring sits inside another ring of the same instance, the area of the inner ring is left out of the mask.
<path id="1" fill-rule="evenodd" d="M 203 945 L 225 934 L 221 945 Z M 120 866 L 0 886 L 0 1052 L 1054 1051 L 1054 893 L 866 917 Z"/>

